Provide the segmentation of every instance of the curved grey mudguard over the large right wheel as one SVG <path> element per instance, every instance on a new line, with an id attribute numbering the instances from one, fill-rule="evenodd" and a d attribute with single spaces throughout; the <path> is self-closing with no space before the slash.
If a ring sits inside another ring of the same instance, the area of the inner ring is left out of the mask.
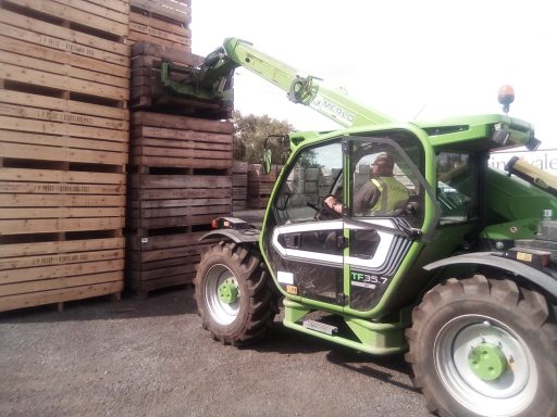
<path id="1" fill-rule="evenodd" d="M 474 252 L 463 255 L 447 257 L 445 260 L 432 262 L 425 265 L 425 270 L 433 270 L 448 265 L 474 264 L 492 266 L 506 270 L 512 275 L 519 275 L 529 281 L 535 283 L 543 290 L 547 291 L 552 296 L 557 298 L 557 280 L 550 275 L 523 264 L 518 261 L 499 256 L 496 252 Z"/>

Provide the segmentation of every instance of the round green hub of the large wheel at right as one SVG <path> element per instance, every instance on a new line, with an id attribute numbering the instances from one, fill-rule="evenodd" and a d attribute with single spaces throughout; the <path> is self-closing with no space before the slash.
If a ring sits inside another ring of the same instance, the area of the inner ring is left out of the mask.
<path id="1" fill-rule="evenodd" d="M 471 349 L 468 363 L 472 372 L 483 381 L 494 381 L 507 369 L 507 357 L 499 346 L 480 343 Z"/>

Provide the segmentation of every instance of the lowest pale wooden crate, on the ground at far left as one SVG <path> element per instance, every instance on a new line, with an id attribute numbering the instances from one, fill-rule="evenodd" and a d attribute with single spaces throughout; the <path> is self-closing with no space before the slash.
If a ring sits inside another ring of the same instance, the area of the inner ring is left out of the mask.
<path id="1" fill-rule="evenodd" d="M 107 294 L 117 296 L 123 278 L 123 237 L 2 243 L 0 312 Z"/>

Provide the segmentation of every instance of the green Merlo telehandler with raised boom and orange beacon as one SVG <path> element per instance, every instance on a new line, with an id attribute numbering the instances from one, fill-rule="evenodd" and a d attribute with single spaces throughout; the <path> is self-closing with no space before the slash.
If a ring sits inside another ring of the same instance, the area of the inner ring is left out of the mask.
<path id="1" fill-rule="evenodd" d="M 289 100 L 338 122 L 296 132 L 256 229 L 220 218 L 195 280 L 203 327 L 244 345 L 284 307 L 287 328 L 371 355 L 405 353 L 441 416 L 557 416 L 557 179 L 490 152 L 540 141 L 508 114 L 400 123 L 319 78 L 230 38 L 176 94 L 232 100 L 246 67 Z M 513 92 L 499 102 L 508 112 Z M 361 212 L 359 187 L 380 154 L 408 191 L 395 211 Z M 269 165 L 265 152 L 263 166 Z M 324 200 L 342 201 L 339 213 Z"/>

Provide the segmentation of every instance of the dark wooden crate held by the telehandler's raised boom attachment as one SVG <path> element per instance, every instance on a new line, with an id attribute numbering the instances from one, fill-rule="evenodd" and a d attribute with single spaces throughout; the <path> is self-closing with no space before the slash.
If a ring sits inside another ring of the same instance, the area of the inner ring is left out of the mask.
<path id="1" fill-rule="evenodd" d="M 161 63 L 171 62 L 182 71 L 171 72 L 177 83 L 191 83 L 194 72 L 203 58 L 184 48 L 138 42 L 132 47 L 131 108 L 159 113 L 185 114 L 211 119 L 231 118 L 233 103 L 222 100 L 203 100 L 196 97 L 176 97 L 161 84 Z"/>

